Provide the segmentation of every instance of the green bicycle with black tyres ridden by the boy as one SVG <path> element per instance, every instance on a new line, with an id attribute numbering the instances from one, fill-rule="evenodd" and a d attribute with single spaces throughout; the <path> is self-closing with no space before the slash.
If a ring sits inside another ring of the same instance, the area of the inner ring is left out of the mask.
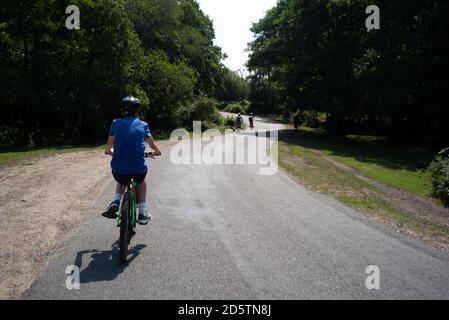
<path id="1" fill-rule="evenodd" d="M 145 152 L 145 158 L 153 158 L 152 152 Z M 128 258 L 128 248 L 132 238 L 137 234 L 137 183 L 131 178 L 120 204 L 117 227 L 120 227 L 120 261 L 125 263 Z"/>

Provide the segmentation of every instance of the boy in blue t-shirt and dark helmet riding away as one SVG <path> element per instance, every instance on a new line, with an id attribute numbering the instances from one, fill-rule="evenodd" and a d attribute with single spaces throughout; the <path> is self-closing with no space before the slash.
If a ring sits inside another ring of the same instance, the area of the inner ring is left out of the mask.
<path id="1" fill-rule="evenodd" d="M 153 218 L 146 207 L 147 184 L 145 181 L 148 167 L 145 160 L 145 142 L 154 151 L 153 155 L 161 154 L 154 142 L 148 124 L 137 118 L 141 103 L 137 98 L 126 97 L 122 100 L 122 119 L 112 122 L 105 153 L 112 156 L 112 175 L 117 181 L 116 193 L 102 216 L 117 219 L 120 201 L 134 178 L 138 187 L 139 218 L 137 222 L 147 225 Z"/>

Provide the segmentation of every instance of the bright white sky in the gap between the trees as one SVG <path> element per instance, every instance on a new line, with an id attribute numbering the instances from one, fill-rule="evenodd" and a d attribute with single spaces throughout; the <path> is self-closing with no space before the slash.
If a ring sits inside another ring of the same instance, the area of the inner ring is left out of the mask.
<path id="1" fill-rule="evenodd" d="M 231 70 L 244 69 L 248 60 L 245 52 L 253 40 L 250 31 L 277 0 L 197 0 L 203 12 L 214 22 L 215 44 L 228 55 L 224 61 Z"/>

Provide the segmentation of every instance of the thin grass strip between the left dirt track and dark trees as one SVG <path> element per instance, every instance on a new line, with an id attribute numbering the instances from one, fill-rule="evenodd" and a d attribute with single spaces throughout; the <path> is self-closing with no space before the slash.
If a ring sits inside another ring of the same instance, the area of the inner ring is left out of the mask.
<path id="1" fill-rule="evenodd" d="M 0 148 L 0 166 L 15 164 L 17 161 L 37 156 L 53 155 L 62 152 L 99 150 L 102 148 L 104 148 L 104 144 L 80 146 L 61 145 L 50 147 L 3 147 Z"/>

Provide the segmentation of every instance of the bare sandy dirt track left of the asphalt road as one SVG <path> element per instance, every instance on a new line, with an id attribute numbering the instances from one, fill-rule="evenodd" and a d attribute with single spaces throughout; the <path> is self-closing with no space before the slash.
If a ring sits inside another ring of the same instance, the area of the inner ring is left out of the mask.
<path id="1" fill-rule="evenodd" d="M 0 168 L 0 299 L 17 297 L 112 181 L 100 150 Z"/>

